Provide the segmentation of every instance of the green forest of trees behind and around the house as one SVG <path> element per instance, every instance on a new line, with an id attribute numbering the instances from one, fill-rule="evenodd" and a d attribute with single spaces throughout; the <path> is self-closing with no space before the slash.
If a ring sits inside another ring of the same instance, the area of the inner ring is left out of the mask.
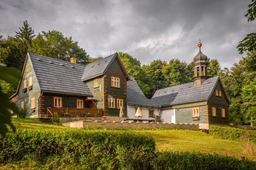
<path id="1" fill-rule="evenodd" d="M 255 19 L 255 1 L 248 6 L 247 21 Z M 256 33 L 248 33 L 238 42 L 238 53 L 244 57 L 230 68 L 221 68 L 217 59 L 207 59 L 209 77 L 220 76 L 226 93 L 231 101 L 229 122 L 231 125 L 256 124 Z M 90 57 L 86 50 L 61 32 L 42 31 L 35 34 L 27 20 L 18 28 L 14 36 L 4 38 L 0 35 L 0 63 L 22 71 L 27 52 L 70 61 L 77 58 L 77 63 L 87 65 L 102 58 Z M 133 76 L 147 98 L 151 98 L 157 89 L 191 82 L 193 79 L 193 61 L 190 63 L 169 56 L 169 61 L 154 60 L 142 65 L 130 54 L 119 52 L 127 71 Z M 0 88 L 11 96 L 15 86 L 1 80 Z"/>

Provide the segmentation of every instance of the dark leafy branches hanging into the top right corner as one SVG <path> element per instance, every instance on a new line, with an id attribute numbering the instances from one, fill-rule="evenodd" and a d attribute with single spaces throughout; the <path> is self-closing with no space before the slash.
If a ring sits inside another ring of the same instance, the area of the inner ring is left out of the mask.
<path id="1" fill-rule="evenodd" d="M 252 3 L 248 5 L 247 13 L 245 17 L 247 17 L 247 21 L 253 21 L 256 17 L 256 0 L 252 0 Z M 244 52 L 252 52 L 256 50 L 256 33 L 247 34 L 246 37 L 239 42 L 238 46 L 239 54 L 243 54 Z"/>

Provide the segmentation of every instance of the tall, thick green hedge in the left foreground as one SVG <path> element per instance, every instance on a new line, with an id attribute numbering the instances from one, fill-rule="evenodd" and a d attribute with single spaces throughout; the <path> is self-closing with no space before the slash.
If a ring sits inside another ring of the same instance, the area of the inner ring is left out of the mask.
<path id="1" fill-rule="evenodd" d="M 152 137 L 133 133 L 18 129 L 0 137 L 0 163 L 34 160 L 49 168 L 150 169 L 155 147 Z"/>

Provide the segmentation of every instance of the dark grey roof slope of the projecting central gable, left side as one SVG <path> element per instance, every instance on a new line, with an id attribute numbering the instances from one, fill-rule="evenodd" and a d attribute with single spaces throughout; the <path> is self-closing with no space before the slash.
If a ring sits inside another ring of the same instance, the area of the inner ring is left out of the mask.
<path id="1" fill-rule="evenodd" d="M 94 63 L 86 65 L 85 69 L 83 70 L 82 81 L 86 81 L 103 75 L 106 69 L 108 69 L 112 61 L 115 59 L 115 57 L 118 57 L 117 53 L 114 53 Z"/>

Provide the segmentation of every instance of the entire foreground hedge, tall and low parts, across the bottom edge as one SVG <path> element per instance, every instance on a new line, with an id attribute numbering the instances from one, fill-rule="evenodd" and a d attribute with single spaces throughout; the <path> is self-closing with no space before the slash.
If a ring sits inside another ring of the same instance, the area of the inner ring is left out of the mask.
<path id="1" fill-rule="evenodd" d="M 218 154 L 158 152 L 152 137 L 123 132 L 18 129 L 0 136 L 0 166 L 36 169 L 255 169 Z"/>

